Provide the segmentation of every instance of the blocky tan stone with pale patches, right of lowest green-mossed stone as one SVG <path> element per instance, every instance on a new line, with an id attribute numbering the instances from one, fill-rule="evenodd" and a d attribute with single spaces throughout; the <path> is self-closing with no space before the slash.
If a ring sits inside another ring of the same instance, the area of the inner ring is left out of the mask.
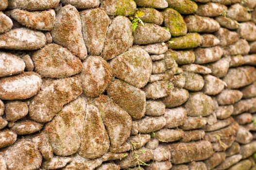
<path id="1" fill-rule="evenodd" d="M 196 64 L 206 64 L 215 62 L 221 59 L 223 55 L 222 48 L 220 46 L 209 48 L 197 48 L 195 50 Z"/>

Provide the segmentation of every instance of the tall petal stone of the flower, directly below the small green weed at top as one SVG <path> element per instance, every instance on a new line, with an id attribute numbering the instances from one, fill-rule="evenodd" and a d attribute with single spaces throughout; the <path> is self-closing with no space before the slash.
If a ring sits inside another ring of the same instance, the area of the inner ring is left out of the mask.
<path id="1" fill-rule="evenodd" d="M 128 50 L 133 45 L 132 33 L 133 26 L 127 17 L 118 16 L 111 20 L 102 50 L 103 58 L 110 60 Z"/>

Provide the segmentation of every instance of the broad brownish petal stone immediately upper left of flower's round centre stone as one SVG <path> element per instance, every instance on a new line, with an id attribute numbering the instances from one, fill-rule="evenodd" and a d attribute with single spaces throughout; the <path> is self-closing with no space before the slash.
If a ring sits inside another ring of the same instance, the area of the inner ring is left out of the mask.
<path id="1" fill-rule="evenodd" d="M 48 44 L 32 56 L 34 68 L 42 77 L 65 78 L 82 71 L 81 61 L 68 49 Z"/>

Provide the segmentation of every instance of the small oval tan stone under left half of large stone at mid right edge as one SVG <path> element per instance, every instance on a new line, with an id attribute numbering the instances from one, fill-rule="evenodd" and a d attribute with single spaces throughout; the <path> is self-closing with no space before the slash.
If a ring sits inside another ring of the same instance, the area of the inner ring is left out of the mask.
<path id="1" fill-rule="evenodd" d="M 217 102 L 220 105 L 234 104 L 242 98 L 242 92 L 239 90 L 224 89 L 218 96 Z"/>

